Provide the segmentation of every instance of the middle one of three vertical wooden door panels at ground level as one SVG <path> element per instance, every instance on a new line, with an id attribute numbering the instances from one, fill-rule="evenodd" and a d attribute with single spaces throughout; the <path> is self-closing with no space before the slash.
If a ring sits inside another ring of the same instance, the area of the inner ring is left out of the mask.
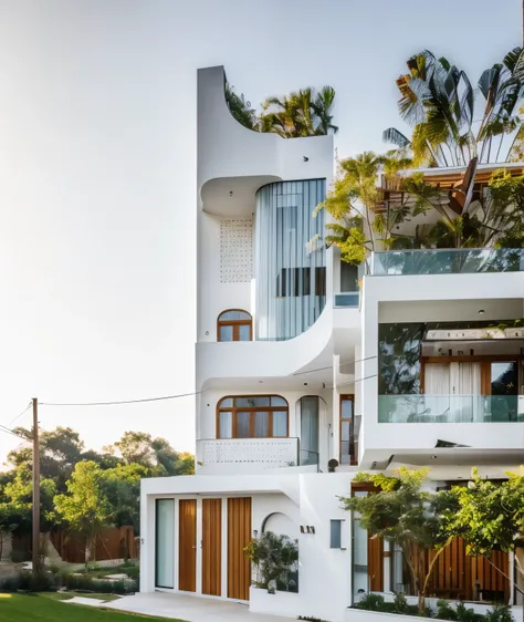
<path id="1" fill-rule="evenodd" d="M 202 499 L 202 594 L 222 594 L 222 499 Z"/>

